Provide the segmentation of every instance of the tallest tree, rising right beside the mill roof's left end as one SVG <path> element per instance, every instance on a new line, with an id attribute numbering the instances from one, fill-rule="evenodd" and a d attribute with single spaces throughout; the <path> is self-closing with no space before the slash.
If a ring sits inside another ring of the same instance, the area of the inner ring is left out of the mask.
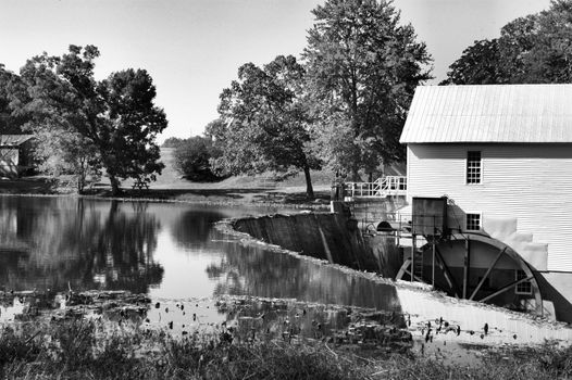
<path id="1" fill-rule="evenodd" d="M 431 58 L 411 25 L 385 0 L 327 0 L 303 52 L 318 149 L 357 175 L 403 159 L 399 135 Z"/>

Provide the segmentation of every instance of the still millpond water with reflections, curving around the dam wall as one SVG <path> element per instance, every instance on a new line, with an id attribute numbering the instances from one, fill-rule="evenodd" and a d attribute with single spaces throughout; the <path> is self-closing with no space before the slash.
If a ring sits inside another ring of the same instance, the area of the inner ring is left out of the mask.
<path id="1" fill-rule="evenodd" d="M 449 356 L 475 344 L 572 338 L 562 324 L 452 300 L 220 228 L 227 219 L 300 212 L 0 197 L 0 322 L 18 320 L 39 305 L 30 295 L 45 294 L 50 301 L 43 306 L 65 311 L 71 293 L 127 291 L 147 300 L 142 325 L 184 334 L 194 327 L 258 324 L 290 338 L 339 338 L 345 329 L 339 340 L 353 334 L 362 342 L 372 324 L 377 326 L 372 331 L 391 325 L 413 337 L 413 350 Z M 393 337 L 394 343 L 403 340 L 400 333 Z"/>

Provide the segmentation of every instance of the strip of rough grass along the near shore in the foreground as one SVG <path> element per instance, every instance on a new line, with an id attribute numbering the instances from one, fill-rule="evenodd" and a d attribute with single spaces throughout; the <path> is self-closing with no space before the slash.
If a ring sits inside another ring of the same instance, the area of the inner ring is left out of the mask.
<path id="1" fill-rule="evenodd" d="M 572 349 L 544 345 L 447 366 L 407 354 L 372 357 L 321 342 L 233 344 L 228 335 L 173 339 L 137 329 L 64 321 L 2 328 L 4 379 L 565 379 Z M 226 339 L 224 339 L 226 338 Z"/>

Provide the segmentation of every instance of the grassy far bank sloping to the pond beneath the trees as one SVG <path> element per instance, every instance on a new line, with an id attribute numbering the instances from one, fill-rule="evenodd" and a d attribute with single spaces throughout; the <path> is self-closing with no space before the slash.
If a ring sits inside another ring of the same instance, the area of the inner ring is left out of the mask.
<path id="1" fill-rule="evenodd" d="M 324 205 L 329 201 L 332 173 L 327 170 L 313 172 L 312 182 L 318 201 L 309 201 L 306 197 L 306 180 L 303 174 L 298 174 L 285 180 L 271 174 L 258 176 L 235 176 L 217 182 L 192 182 L 182 178 L 173 166 L 173 149 L 161 150 L 161 160 L 165 167 L 157 181 L 149 189 L 132 189 L 133 180 L 122 183 L 120 198 L 149 199 L 161 201 L 198 202 L 210 204 L 293 204 Z M 24 177 L 18 179 L 0 179 L 0 193 L 4 194 L 73 194 L 75 185 L 70 176 L 51 178 L 46 176 Z M 103 177 L 92 188 L 87 189 L 89 195 L 98 198 L 111 197 L 108 178 Z"/>

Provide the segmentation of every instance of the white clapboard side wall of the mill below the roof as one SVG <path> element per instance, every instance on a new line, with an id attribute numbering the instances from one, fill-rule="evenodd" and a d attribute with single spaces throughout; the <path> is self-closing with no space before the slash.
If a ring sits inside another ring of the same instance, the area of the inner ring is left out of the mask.
<path id="1" fill-rule="evenodd" d="M 482 183 L 465 182 L 468 151 L 481 151 Z M 519 233 L 548 244 L 537 269 L 572 271 L 572 144 L 409 144 L 407 154 L 408 202 L 447 195 L 485 226 L 517 218 Z"/>

